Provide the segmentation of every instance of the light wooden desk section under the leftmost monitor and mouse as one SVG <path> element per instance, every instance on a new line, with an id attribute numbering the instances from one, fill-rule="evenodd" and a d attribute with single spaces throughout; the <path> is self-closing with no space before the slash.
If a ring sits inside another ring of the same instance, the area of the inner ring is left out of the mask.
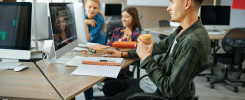
<path id="1" fill-rule="evenodd" d="M 0 70 L 0 98 L 5 99 L 61 99 L 34 63 L 20 72 Z"/>

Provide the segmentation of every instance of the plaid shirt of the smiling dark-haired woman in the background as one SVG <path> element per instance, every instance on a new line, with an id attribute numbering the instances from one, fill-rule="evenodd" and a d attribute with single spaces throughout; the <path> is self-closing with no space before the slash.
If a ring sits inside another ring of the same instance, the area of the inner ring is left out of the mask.
<path id="1" fill-rule="evenodd" d="M 125 28 L 115 28 L 115 30 L 113 31 L 113 36 L 111 37 L 111 41 L 108 43 L 109 46 L 112 46 L 112 43 L 114 41 L 118 41 L 119 39 L 122 38 L 123 36 L 123 32 L 121 32 L 121 30 L 124 30 Z M 137 41 L 137 38 L 139 37 L 140 33 L 137 30 L 133 30 L 132 32 L 132 41 Z M 128 41 L 127 38 L 122 39 L 121 41 Z"/>

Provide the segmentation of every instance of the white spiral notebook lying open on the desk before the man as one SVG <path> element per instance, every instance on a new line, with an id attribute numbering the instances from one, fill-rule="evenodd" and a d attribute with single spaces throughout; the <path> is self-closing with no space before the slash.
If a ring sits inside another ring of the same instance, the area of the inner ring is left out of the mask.
<path id="1" fill-rule="evenodd" d="M 90 59 L 86 59 L 86 61 L 87 60 L 98 61 L 98 59 L 100 59 L 103 61 L 107 60 L 107 61 L 119 62 L 121 65 L 112 66 L 112 65 L 80 64 L 78 65 L 77 69 L 73 71 L 71 74 L 117 78 L 121 70 L 122 64 L 124 63 L 123 58 L 106 58 L 106 57 L 89 57 L 89 58 Z"/>

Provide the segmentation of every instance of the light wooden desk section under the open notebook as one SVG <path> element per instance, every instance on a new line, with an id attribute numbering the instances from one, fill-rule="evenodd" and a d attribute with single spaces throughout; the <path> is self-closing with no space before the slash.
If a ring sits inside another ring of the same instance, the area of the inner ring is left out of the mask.
<path id="1" fill-rule="evenodd" d="M 89 54 L 89 56 L 101 56 L 103 51 L 97 51 L 96 54 Z M 74 56 L 84 56 L 83 52 L 72 51 L 64 55 L 66 58 Z M 134 60 L 125 59 L 123 67 L 132 64 Z M 77 67 L 68 67 L 64 64 L 49 63 L 48 60 L 37 62 L 44 74 L 48 77 L 51 83 L 55 86 L 63 99 L 71 99 L 81 92 L 89 89 L 95 84 L 104 80 L 104 77 L 95 76 L 75 76 L 71 73 Z"/>

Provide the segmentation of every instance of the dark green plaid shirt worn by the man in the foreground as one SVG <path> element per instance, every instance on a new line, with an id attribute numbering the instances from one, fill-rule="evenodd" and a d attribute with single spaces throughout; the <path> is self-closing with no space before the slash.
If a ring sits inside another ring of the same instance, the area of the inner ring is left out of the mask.
<path id="1" fill-rule="evenodd" d="M 193 74 L 211 59 L 210 39 L 200 19 L 177 37 L 177 44 L 170 54 L 174 39 L 181 30 L 179 26 L 174 33 L 154 44 L 152 55 L 140 65 L 157 86 L 157 93 L 169 98 L 176 97 L 190 83 Z M 157 64 L 153 55 L 162 53 L 166 56 Z M 131 58 L 138 57 L 135 50 L 128 51 L 128 54 Z"/>

